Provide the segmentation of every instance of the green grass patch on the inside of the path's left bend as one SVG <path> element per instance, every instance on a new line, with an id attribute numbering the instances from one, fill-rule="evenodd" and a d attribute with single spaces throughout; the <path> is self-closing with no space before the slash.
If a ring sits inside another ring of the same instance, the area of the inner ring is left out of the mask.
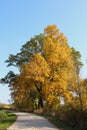
<path id="1" fill-rule="evenodd" d="M 11 126 L 15 120 L 16 120 L 16 115 L 11 113 L 11 112 L 3 112 L 0 111 L 0 115 L 2 115 L 2 120 L 0 120 L 0 130 L 6 130 L 9 126 Z M 7 116 L 6 116 L 7 115 Z M 4 118 L 4 116 L 6 118 Z"/>

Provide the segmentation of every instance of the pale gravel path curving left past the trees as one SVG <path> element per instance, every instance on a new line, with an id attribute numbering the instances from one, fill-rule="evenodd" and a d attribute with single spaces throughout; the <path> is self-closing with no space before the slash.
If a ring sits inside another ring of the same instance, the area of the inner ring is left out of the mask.
<path id="1" fill-rule="evenodd" d="M 53 124 L 43 117 L 31 113 L 15 113 L 16 122 L 7 130 L 58 130 Z"/>

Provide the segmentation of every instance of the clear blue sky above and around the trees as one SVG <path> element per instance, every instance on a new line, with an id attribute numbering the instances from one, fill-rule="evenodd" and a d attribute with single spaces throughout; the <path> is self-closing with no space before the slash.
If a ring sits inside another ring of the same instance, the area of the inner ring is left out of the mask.
<path id="1" fill-rule="evenodd" d="M 13 67 L 4 61 L 16 54 L 31 37 L 56 24 L 70 46 L 80 51 L 87 77 L 87 0 L 0 0 L 0 78 Z M 8 103 L 10 91 L 0 85 L 0 102 Z"/>

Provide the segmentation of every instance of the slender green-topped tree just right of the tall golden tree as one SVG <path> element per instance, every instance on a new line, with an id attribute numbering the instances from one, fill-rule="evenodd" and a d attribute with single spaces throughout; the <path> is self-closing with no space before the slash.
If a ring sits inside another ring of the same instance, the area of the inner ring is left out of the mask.
<path id="1" fill-rule="evenodd" d="M 83 66 L 81 62 L 81 54 L 79 51 L 76 51 L 74 48 L 72 48 L 72 60 L 74 65 L 74 71 L 73 71 L 73 83 L 72 83 L 72 90 L 76 95 L 79 97 L 79 103 L 80 103 L 80 109 L 83 111 L 83 103 L 82 103 L 82 93 L 81 93 L 81 83 L 80 83 L 80 69 Z"/>

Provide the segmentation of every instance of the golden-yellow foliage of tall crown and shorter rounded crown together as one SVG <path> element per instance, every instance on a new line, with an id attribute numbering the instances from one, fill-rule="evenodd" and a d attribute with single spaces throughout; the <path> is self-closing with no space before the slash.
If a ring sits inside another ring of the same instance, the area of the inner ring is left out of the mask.
<path id="1" fill-rule="evenodd" d="M 33 54 L 30 62 L 21 66 L 20 75 L 24 76 L 24 82 L 32 82 L 29 91 L 35 92 L 40 107 L 45 101 L 50 108 L 56 109 L 62 99 L 70 102 L 72 96 L 68 90 L 73 71 L 72 50 L 56 25 L 45 28 L 44 35 L 41 41 L 43 53 Z"/>

